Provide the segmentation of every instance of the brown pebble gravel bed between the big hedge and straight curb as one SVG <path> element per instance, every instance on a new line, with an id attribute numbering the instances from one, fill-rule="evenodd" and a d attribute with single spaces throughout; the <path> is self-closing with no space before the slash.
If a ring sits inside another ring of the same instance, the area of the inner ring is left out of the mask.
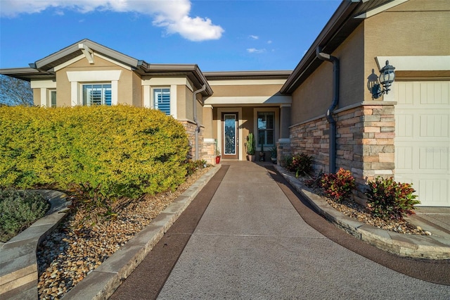
<path id="1" fill-rule="evenodd" d="M 175 192 L 116 201 L 113 211 L 117 215 L 110 220 L 102 217 L 107 213 L 105 208 L 79 209 L 70 213 L 37 248 L 39 299 L 60 299 L 148 225 L 207 170 L 198 170 Z"/>

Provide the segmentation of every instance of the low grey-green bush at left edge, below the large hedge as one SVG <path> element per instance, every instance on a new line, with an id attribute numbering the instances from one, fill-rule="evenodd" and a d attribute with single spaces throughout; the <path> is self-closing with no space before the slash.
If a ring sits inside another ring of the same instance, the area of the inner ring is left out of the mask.
<path id="1" fill-rule="evenodd" d="M 33 192 L 0 191 L 0 242 L 8 242 L 42 218 L 50 204 L 44 196 Z"/>

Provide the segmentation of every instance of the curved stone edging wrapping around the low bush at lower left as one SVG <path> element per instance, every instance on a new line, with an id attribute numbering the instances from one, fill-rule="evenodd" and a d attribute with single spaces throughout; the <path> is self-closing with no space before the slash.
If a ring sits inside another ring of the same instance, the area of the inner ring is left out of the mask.
<path id="1" fill-rule="evenodd" d="M 14 295 L 18 299 L 37 298 L 37 245 L 63 220 L 72 203 L 62 192 L 49 189 L 32 191 L 42 194 L 51 207 L 44 217 L 1 245 L 0 296 L 18 289 Z"/>

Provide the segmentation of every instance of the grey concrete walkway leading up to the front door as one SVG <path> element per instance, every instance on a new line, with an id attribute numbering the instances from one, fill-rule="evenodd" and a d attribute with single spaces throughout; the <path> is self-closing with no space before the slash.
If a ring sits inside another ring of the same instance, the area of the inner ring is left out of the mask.
<path id="1" fill-rule="evenodd" d="M 224 164 L 229 170 L 158 299 L 450 299 L 450 286 L 386 268 L 309 226 L 264 166 Z M 341 242 L 365 244 L 327 230 Z M 112 299 L 153 299 L 145 282 L 158 270 L 139 267 Z"/>

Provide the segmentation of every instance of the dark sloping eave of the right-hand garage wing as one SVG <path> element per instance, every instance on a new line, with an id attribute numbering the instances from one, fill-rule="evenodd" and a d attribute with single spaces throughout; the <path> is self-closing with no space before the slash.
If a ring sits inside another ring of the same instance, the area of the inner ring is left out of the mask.
<path id="1" fill-rule="evenodd" d="M 385 11 L 408 0 L 342 0 L 342 3 L 311 44 L 300 63 L 281 88 L 282 94 L 292 94 L 314 70 L 323 63 L 316 57 L 317 47 L 328 54 L 333 53 L 365 18 Z"/>

